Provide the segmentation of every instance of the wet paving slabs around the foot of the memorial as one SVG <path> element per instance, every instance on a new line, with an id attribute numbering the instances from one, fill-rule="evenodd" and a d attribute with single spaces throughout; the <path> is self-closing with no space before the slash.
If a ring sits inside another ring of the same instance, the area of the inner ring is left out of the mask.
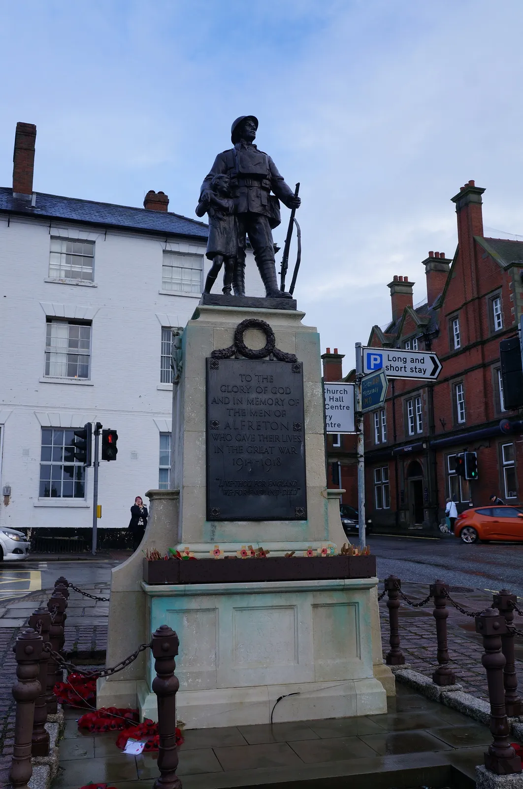
<path id="1" fill-rule="evenodd" d="M 81 733 L 78 715 L 66 710 L 53 789 L 77 789 L 87 778 L 118 789 L 153 786 L 159 776 L 156 754 L 122 753 L 115 733 Z M 177 772 L 184 789 L 314 779 L 317 786 L 338 786 L 332 783 L 336 776 L 347 777 L 354 789 L 368 787 L 372 776 L 374 789 L 385 789 L 444 787 L 454 767 L 462 776 L 453 785 L 473 787 L 474 767 L 483 763 L 490 742 L 488 727 L 399 686 L 386 715 L 187 731 Z"/>

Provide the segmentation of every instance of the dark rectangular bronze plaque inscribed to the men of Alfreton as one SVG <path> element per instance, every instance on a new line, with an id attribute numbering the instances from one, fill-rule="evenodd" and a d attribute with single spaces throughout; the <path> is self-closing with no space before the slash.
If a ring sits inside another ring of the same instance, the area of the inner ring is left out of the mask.
<path id="1" fill-rule="evenodd" d="M 207 359 L 207 520 L 306 520 L 304 427 L 300 362 Z"/>

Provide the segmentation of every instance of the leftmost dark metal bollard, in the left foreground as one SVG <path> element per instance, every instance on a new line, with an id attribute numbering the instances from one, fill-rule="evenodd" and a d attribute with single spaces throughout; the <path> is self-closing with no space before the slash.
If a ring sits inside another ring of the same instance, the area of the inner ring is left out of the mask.
<path id="1" fill-rule="evenodd" d="M 9 780 L 13 789 L 28 789 L 32 776 L 31 737 L 35 699 L 40 692 L 39 660 L 43 650 L 43 638 L 35 630 L 24 630 L 13 646 L 17 660 L 18 682 L 13 685 L 13 697 L 17 702 L 14 724 L 13 760 Z"/>

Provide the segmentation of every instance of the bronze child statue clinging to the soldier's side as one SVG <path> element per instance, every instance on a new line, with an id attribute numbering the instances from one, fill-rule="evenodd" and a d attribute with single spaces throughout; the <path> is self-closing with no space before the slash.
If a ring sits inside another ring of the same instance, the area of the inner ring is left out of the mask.
<path id="1" fill-rule="evenodd" d="M 222 265 L 224 266 L 224 294 L 232 291 L 232 277 L 238 257 L 238 233 L 234 200 L 231 197 L 231 183 L 228 175 L 217 174 L 211 181 L 211 189 L 202 193 L 196 207 L 196 214 L 209 216 L 209 238 L 206 257 L 213 261 L 206 278 L 203 292 L 210 293 Z"/>

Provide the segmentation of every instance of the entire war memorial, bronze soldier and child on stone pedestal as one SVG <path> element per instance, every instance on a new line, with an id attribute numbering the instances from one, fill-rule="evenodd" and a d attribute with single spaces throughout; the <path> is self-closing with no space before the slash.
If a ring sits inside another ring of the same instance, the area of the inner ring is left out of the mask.
<path id="1" fill-rule="evenodd" d="M 147 492 L 143 542 L 112 571 L 107 663 L 162 624 L 176 630 L 187 728 L 369 715 L 394 694 L 375 560 L 341 554 L 341 492 L 326 486 L 320 338 L 284 290 L 298 188 L 254 145 L 257 129 L 238 118 L 202 183 L 212 268 L 174 333 L 172 489 Z M 280 201 L 291 222 L 278 283 Z M 247 239 L 265 298 L 245 294 Z M 169 548 L 190 556 L 165 560 Z M 98 708 L 156 719 L 152 662 L 98 680 Z"/>

